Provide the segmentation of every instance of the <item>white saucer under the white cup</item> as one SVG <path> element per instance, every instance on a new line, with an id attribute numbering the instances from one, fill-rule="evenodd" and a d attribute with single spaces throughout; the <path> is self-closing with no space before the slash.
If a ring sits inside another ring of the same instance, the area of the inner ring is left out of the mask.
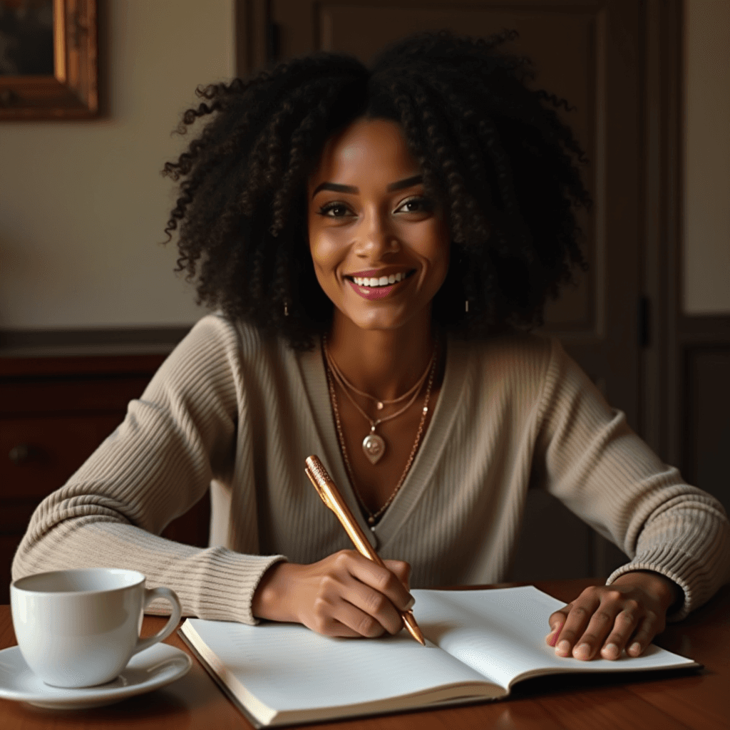
<path id="1" fill-rule="evenodd" d="M 191 658 L 180 649 L 155 644 L 133 656 L 112 682 L 97 687 L 66 689 L 51 687 L 34 675 L 20 649 L 0 651 L 0 697 L 28 702 L 53 710 L 79 710 L 119 702 L 149 692 L 188 673 Z"/>

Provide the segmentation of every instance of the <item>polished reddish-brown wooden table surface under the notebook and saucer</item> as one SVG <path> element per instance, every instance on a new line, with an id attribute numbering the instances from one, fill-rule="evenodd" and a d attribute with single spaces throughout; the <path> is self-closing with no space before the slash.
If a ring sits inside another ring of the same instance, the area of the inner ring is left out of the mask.
<path id="1" fill-rule="evenodd" d="M 536 583 L 562 601 L 575 598 L 588 580 Z M 545 633 L 548 631 L 545 617 Z M 147 616 L 144 634 L 164 619 Z M 0 648 L 15 645 L 8 606 L 0 606 Z M 185 651 L 177 634 L 167 643 Z M 502 702 L 380 715 L 305 726 L 310 730 L 459 730 L 474 728 L 551 730 L 730 729 L 730 586 L 685 621 L 657 637 L 656 644 L 693 658 L 702 670 L 652 675 L 562 675 L 518 685 Z M 250 729 L 205 669 L 193 659 L 188 675 L 149 694 L 90 710 L 39 710 L 0 699 L 0 728 L 135 728 L 154 730 Z"/>

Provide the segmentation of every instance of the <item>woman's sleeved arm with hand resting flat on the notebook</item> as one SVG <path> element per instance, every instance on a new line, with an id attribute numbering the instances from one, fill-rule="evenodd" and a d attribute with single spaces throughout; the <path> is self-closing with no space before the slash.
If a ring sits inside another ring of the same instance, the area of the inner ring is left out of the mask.
<path id="1" fill-rule="evenodd" d="M 663 464 L 557 342 L 535 462 L 548 490 L 631 558 L 550 616 L 561 656 L 640 653 L 668 615 L 683 618 L 730 577 L 721 504 Z"/>

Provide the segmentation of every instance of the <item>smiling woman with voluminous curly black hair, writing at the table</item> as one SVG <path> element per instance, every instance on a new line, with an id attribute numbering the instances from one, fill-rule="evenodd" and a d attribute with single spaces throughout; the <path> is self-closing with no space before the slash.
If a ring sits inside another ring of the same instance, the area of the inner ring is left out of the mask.
<path id="1" fill-rule="evenodd" d="M 561 656 L 639 655 L 729 572 L 685 485 L 555 341 L 520 333 L 583 260 L 581 153 L 505 36 L 312 55 L 201 92 L 166 174 L 204 318 L 31 520 L 14 575 L 134 567 L 203 618 L 401 628 L 408 585 L 502 580 L 535 480 L 631 556 L 546 617 Z M 304 476 L 316 453 L 387 569 Z M 211 545 L 158 537 L 207 489 Z M 558 635 L 556 635 L 558 634 Z"/>

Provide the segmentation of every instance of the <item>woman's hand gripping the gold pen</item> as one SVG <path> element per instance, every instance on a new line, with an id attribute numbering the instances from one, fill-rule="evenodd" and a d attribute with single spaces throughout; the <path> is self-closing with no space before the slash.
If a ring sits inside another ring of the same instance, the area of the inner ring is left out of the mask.
<path id="1" fill-rule="evenodd" d="M 290 621 L 333 637 L 379 637 L 403 628 L 410 609 L 410 565 L 384 561 L 381 568 L 355 550 L 340 550 L 318 563 L 277 563 L 253 594 L 256 618 Z"/>

